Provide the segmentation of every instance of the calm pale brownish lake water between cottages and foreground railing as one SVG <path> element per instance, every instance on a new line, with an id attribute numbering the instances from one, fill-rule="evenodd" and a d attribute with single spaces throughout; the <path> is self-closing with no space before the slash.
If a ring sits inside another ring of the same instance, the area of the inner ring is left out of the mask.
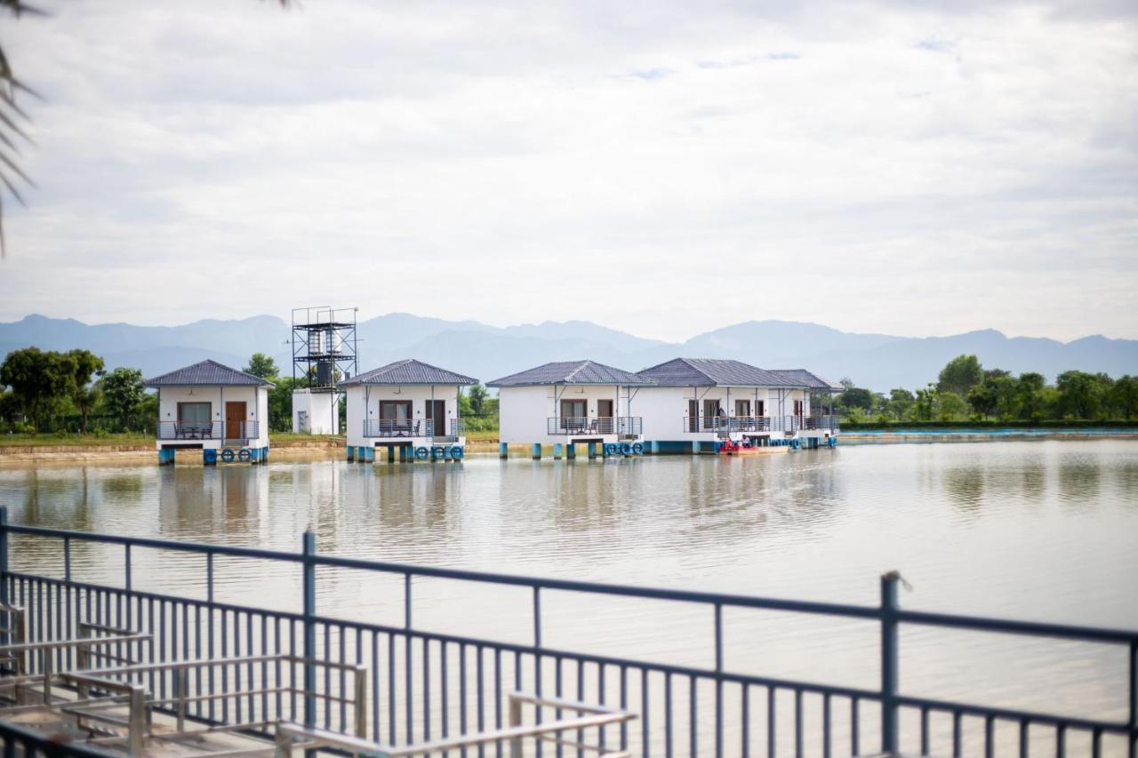
<path id="1" fill-rule="evenodd" d="M 907 607 L 1138 627 L 1138 442 L 839 447 L 717 459 L 462 464 L 339 461 L 264 468 L 0 468 L 16 522 L 399 562 L 875 603 L 899 569 Z M 134 557 L 135 586 L 204 595 L 200 558 Z M 122 558 L 75 549 L 76 578 L 121 584 Z M 19 567 L 59 575 L 34 541 Z M 298 609 L 296 569 L 224 562 L 218 600 Z M 321 612 L 402 624 L 399 578 L 320 577 Z M 543 595 L 552 646 L 709 666 L 711 617 L 675 604 Z M 525 591 L 415 584 L 415 625 L 528 642 Z M 725 615 L 726 665 L 875 686 L 877 631 L 859 621 Z M 1123 718 L 1112 646 L 907 629 L 914 694 Z"/>

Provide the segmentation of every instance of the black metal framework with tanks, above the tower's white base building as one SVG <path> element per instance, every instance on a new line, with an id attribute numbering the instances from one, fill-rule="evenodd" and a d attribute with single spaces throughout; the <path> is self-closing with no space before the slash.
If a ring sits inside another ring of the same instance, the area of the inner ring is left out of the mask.
<path id="1" fill-rule="evenodd" d="M 305 378 L 313 393 L 338 393 L 358 371 L 356 311 L 315 306 L 292 308 L 292 381 Z"/>

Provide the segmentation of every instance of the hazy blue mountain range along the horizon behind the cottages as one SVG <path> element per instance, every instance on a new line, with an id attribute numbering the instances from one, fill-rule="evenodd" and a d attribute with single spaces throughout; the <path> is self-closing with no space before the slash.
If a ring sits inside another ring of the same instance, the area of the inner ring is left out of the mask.
<path id="1" fill-rule="evenodd" d="M 389 313 L 358 323 L 361 370 L 401 357 L 418 357 L 489 381 L 545 363 L 593 359 L 640 370 L 676 357 L 731 357 L 768 369 L 808 368 L 833 379 L 849 377 L 877 390 L 920 387 L 962 353 L 987 366 L 1054 379 L 1067 369 L 1138 374 L 1138 340 L 1083 337 L 1070 343 L 1006 337 L 986 329 L 950 337 L 896 337 L 840 331 L 795 321 L 749 321 L 698 335 L 685 343 L 644 339 L 587 321 L 490 327 Z M 132 365 L 150 377 L 213 357 L 241 368 L 255 352 L 272 355 L 288 373 L 289 324 L 259 315 L 233 321 L 196 321 L 180 327 L 126 323 L 84 324 L 73 319 L 30 315 L 0 323 L 0 354 L 28 345 L 44 349 L 83 347 L 110 366 Z"/>

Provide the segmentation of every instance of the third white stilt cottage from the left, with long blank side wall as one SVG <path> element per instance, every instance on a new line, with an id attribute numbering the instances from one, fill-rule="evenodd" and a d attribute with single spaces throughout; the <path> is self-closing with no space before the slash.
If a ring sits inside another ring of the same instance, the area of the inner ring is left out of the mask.
<path id="1" fill-rule="evenodd" d="M 576 455 L 576 446 L 588 446 L 589 455 L 643 452 L 643 419 L 633 404 L 650 379 L 595 361 L 566 361 L 502 377 L 488 382 L 498 389 L 500 452 L 510 444 L 531 444 L 534 458 L 542 445 L 553 445 Z"/>

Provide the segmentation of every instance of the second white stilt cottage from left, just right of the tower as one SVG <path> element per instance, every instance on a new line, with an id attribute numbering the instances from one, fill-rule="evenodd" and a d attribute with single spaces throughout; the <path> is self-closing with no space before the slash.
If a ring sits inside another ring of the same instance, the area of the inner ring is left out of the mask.
<path id="1" fill-rule="evenodd" d="M 339 382 L 347 396 L 347 458 L 374 461 L 461 459 L 467 432 L 459 415 L 462 387 L 477 379 L 407 359 Z"/>

